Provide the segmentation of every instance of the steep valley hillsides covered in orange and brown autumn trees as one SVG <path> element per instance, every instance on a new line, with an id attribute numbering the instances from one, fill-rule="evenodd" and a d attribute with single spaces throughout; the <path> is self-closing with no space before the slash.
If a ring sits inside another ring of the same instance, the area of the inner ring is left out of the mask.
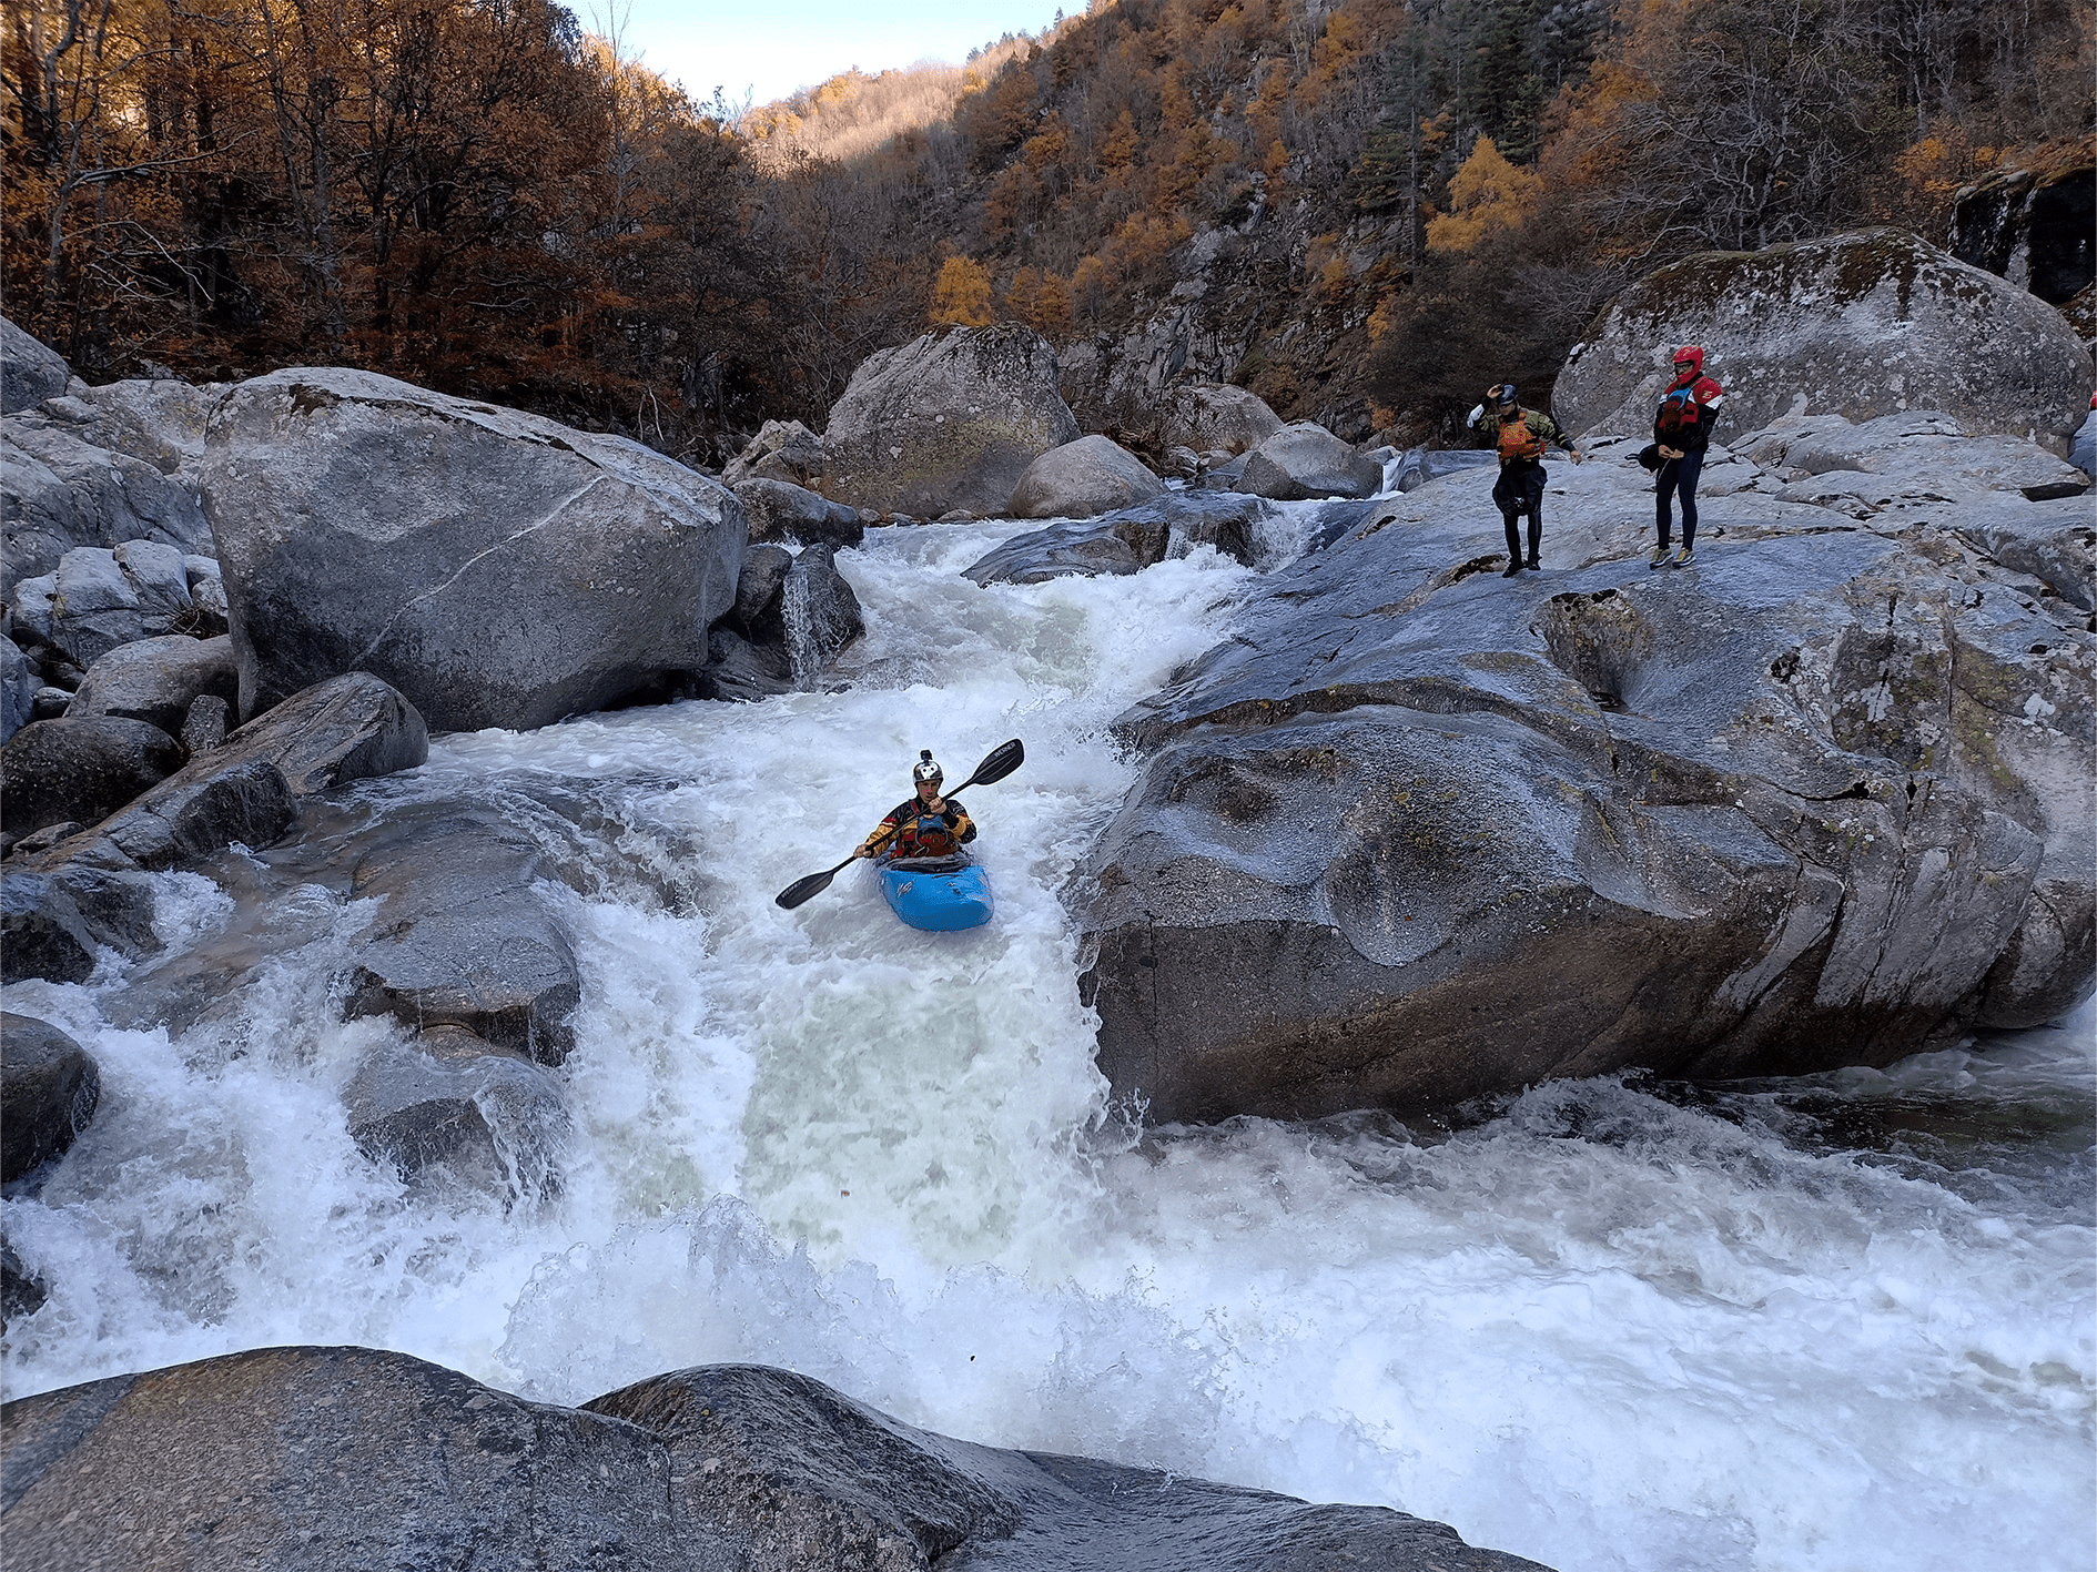
<path id="1" fill-rule="evenodd" d="M 361 365 L 694 461 L 933 321 L 1040 329 L 1088 425 L 1155 350 L 1432 436 L 1661 262 L 1942 239 L 2093 124 L 2074 0 L 1095 0 L 742 113 L 545 0 L 23 0 L 0 44 L 6 310 L 90 377 Z"/>

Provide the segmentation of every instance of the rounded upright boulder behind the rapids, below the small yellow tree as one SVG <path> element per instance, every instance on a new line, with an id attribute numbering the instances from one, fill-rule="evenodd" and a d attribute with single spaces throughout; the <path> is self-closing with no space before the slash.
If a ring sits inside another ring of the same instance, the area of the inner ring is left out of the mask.
<path id="1" fill-rule="evenodd" d="M 830 409 L 822 451 L 841 501 L 990 516 L 1034 459 L 1078 436 L 1040 333 L 956 327 L 868 356 Z"/>

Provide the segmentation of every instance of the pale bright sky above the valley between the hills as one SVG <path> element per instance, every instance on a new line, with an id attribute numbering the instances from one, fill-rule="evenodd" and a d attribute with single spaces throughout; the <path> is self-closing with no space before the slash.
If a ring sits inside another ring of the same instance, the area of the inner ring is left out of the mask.
<path id="1" fill-rule="evenodd" d="M 719 86 L 740 103 L 784 99 L 858 65 L 887 71 L 923 59 L 963 61 L 998 34 L 1040 34 L 1084 0 L 566 0 L 583 27 L 606 31 L 617 8 L 627 54 L 682 82 L 694 99 Z"/>

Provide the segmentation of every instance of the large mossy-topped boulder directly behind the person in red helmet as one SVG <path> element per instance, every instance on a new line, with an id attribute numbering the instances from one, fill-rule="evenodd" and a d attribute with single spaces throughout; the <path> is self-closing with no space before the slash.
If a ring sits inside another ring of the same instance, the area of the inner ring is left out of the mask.
<path id="1" fill-rule="evenodd" d="M 1852 421 L 1944 411 L 2066 453 L 2089 411 L 2091 356 L 2057 310 L 1896 228 L 1707 252 L 1625 289 L 1566 356 L 1566 430 L 1640 436 L 1680 344 L 1726 386 L 1732 442 L 1780 415 Z"/>

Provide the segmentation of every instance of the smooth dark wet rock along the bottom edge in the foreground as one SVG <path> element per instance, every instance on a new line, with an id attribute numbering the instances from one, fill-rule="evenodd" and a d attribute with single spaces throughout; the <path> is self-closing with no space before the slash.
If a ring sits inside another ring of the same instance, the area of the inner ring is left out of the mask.
<path id="1" fill-rule="evenodd" d="M 409 1354 L 266 1348 L 0 1413 L 8 1557 L 50 1572 L 1543 1572 L 1388 1507 L 952 1440 L 761 1364 L 562 1409 Z"/>

